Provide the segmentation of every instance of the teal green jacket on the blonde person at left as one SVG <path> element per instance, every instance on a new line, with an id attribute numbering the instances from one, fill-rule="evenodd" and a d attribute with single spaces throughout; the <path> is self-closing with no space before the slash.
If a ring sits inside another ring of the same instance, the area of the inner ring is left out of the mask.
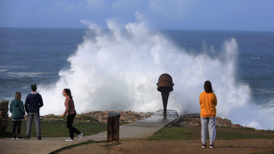
<path id="1" fill-rule="evenodd" d="M 24 114 L 26 114 L 24 103 L 21 100 L 12 100 L 9 110 L 12 113 L 12 118 L 24 118 Z"/>

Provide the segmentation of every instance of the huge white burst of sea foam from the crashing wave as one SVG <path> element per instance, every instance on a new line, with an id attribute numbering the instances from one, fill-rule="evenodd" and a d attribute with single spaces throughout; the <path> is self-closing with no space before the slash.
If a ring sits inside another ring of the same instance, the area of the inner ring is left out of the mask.
<path id="1" fill-rule="evenodd" d="M 260 118 L 264 115 L 253 119 L 258 113 L 250 107 L 251 89 L 236 81 L 238 44 L 234 38 L 224 40 L 220 55 L 212 58 L 206 52 L 191 54 L 174 46 L 159 31 L 149 30 L 144 21 L 120 29 L 107 20 L 107 26 L 108 30 L 91 26 L 83 43 L 68 57 L 70 68 L 59 72 L 58 82 L 40 89 L 45 104 L 41 115 L 63 114 L 65 88 L 71 89 L 78 114 L 97 110 L 155 112 L 163 109 L 156 83 L 167 73 L 175 84 L 167 109 L 199 113 L 199 94 L 209 80 L 218 100 L 217 116 L 244 126 L 274 129 L 273 124 L 263 126 Z"/>

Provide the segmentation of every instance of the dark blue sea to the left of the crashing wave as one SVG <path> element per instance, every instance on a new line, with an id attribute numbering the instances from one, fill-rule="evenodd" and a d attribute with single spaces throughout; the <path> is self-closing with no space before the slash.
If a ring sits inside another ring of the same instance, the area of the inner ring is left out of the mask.
<path id="1" fill-rule="evenodd" d="M 11 100 L 15 91 L 26 95 L 33 83 L 56 82 L 83 41 L 84 30 L 0 28 L 0 100 Z"/>

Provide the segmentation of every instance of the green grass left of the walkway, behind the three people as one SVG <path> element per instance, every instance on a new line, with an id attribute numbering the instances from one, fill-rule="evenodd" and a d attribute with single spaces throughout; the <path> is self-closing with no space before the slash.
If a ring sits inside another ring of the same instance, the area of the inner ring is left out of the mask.
<path id="1" fill-rule="evenodd" d="M 41 137 L 42 138 L 50 138 L 50 137 L 68 137 L 69 131 L 66 126 L 66 116 L 58 117 L 51 116 L 49 118 L 41 118 Z M 20 136 L 26 136 L 26 120 L 22 121 Z M 120 125 L 128 124 L 128 122 L 120 122 Z M 6 133 L 0 133 L 0 138 L 3 137 L 12 137 L 12 119 L 8 118 L 8 128 L 6 129 Z M 84 136 L 98 134 L 100 132 L 107 130 L 107 123 L 99 123 L 97 120 L 90 116 L 81 116 L 74 118 L 73 127 L 77 128 L 79 131 L 84 132 Z M 31 136 L 36 137 L 36 128 L 35 122 L 33 120 L 31 127 Z M 16 130 L 17 134 L 17 130 Z"/>

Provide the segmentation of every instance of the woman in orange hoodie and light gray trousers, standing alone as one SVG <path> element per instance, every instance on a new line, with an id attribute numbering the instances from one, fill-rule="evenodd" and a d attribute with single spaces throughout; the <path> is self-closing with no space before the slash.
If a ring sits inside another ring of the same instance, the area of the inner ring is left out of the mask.
<path id="1" fill-rule="evenodd" d="M 206 148 L 206 135 L 209 131 L 210 148 L 214 148 L 213 142 L 216 136 L 216 105 L 217 98 L 213 93 L 211 82 L 206 81 L 204 84 L 205 91 L 200 94 L 199 102 L 201 107 L 202 123 L 202 148 Z"/>

